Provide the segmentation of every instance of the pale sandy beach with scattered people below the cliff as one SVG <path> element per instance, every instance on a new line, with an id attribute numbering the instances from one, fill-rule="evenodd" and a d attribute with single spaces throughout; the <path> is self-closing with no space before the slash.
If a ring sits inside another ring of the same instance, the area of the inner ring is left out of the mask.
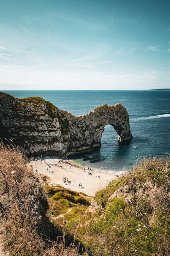
<path id="1" fill-rule="evenodd" d="M 65 161 L 50 157 L 44 157 L 41 160 L 37 158 L 37 160 L 31 161 L 29 165 L 32 165 L 35 173 L 48 177 L 48 185 L 60 185 L 89 196 L 95 196 L 97 190 L 104 188 L 110 181 L 116 179 L 117 175 L 120 176 L 123 173 L 92 169 L 92 175 L 89 175 L 87 166 L 84 167 L 85 170 L 82 170 L 83 166 L 72 160 Z M 63 177 L 66 177 L 66 184 L 64 184 Z M 67 177 L 71 184 L 67 183 Z M 79 187 L 80 183 L 82 186 Z"/>

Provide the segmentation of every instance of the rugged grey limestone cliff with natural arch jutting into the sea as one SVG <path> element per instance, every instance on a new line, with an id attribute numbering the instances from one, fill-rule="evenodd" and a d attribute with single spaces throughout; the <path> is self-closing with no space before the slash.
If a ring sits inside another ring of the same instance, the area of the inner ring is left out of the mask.
<path id="1" fill-rule="evenodd" d="M 11 139 L 27 155 L 73 152 L 99 146 L 105 125 L 118 141 L 132 138 L 129 115 L 123 105 L 100 105 L 84 116 L 74 116 L 39 97 L 16 99 L 0 93 L 0 137 Z"/>

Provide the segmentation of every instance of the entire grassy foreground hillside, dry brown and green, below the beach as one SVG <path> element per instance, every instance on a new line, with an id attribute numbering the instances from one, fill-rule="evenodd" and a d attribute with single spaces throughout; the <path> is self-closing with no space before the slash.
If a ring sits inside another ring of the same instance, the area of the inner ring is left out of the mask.
<path id="1" fill-rule="evenodd" d="M 169 156 L 145 159 L 93 200 L 41 186 L 22 154 L 1 145 L 1 245 L 13 256 L 169 256 L 169 177 Z"/>

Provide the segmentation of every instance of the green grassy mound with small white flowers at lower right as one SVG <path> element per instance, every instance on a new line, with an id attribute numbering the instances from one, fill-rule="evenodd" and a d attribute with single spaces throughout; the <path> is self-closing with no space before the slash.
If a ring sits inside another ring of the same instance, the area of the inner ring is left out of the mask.
<path id="1" fill-rule="evenodd" d="M 170 158 L 141 161 L 98 191 L 77 226 L 90 255 L 170 255 Z"/>

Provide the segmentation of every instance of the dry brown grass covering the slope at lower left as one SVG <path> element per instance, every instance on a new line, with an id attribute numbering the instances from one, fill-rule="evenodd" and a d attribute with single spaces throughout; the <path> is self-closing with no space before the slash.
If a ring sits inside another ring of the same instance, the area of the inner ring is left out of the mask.
<path id="1" fill-rule="evenodd" d="M 46 216 L 46 194 L 19 150 L 0 144 L 0 226 L 4 249 L 11 256 L 77 256 L 79 248 L 65 248 Z M 51 239 L 50 239 L 51 237 Z"/>

